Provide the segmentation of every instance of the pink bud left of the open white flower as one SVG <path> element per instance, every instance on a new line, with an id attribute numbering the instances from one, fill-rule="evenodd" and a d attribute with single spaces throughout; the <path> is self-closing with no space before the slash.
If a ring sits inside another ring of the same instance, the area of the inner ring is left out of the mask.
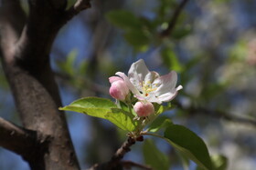
<path id="1" fill-rule="evenodd" d="M 124 83 L 123 79 L 116 80 L 112 82 L 112 86 L 110 88 L 110 95 L 113 98 L 118 100 L 125 100 L 126 95 L 129 93 L 129 88 Z"/>

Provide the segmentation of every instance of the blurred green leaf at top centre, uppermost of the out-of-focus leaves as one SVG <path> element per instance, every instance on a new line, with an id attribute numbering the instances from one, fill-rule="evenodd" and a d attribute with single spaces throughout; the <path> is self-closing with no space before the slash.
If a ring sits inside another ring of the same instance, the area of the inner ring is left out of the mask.
<path id="1" fill-rule="evenodd" d="M 113 24 L 125 30 L 140 29 L 140 19 L 133 13 L 125 10 L 115 10 L 107 13 L 107 19 Z"/>

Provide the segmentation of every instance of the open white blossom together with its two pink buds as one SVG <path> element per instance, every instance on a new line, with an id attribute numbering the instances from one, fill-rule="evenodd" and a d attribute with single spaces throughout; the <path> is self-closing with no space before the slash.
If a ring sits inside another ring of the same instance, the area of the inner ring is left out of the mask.
<path id="1" fill-rule="evenodd" d="M 138 117 L 146 117 L 155 113 L 152 103 L 161 105 L 163 102 L 173 100 L 177 92 L 182 89 L 176 87 L 177 75 L 172 71 L 167 75 L 159 75 L 155 71 L 149 71 L 144 60 L 139 60 L 131 65 L 128 76 L 117 72 L 111 76 L 110 95 L 133 107 Z M 131 92 L 132 95 L 129 95 Z M 129 96 L 129 97 L 128 97 Z M 131 97 L 133 96 L 132 105 Z"/>

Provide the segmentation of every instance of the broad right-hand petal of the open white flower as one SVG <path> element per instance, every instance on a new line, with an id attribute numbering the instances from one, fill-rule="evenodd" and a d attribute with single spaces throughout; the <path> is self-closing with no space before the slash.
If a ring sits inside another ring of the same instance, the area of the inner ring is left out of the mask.
<path id="1" fill-rule="evenodd" d="M 172 91 L 176 87 L 176 81 L 177 75 L 175 71 L 155 79 L 154 84 L 160 85 L 155 91 L 155 95 L 164 95 L 165 93 Z"/>

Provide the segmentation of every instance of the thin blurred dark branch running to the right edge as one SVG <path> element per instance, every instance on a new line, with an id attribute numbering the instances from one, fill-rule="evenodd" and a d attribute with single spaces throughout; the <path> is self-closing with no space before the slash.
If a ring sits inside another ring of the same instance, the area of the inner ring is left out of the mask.
<path id="1" fill-rule="evenodd" d="M 187 110 L 187 112 L 191 115 L 197 115 L 197 114 L 208 115 L 215 118 L 223 118 L 231 122 L 236 122 L 244 125 L 252 125 L 256 127 L 255 119 L 238 117 L 236 115 L 231 115 L 221 110 L 212 110 L 205 107 L 195 107 L 195 106 L 184 107 L 183 105 L 178 103 L 176 103 L 176 105 L 183 110 Z"/>

